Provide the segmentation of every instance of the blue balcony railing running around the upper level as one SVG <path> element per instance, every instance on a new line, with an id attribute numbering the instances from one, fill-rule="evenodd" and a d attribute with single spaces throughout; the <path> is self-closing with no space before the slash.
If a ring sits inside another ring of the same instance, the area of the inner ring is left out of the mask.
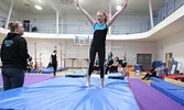
<path id="1" fill-rule="evenodd" d="M 172 14 L 175 10 L 184 4 L 184 0 L 169 0 L 162 8 L 154 13 L 154 25 L 158 25 L 161 21 Z M 6 26 L 7 19 L 0 16 L 0 26 Z M 25 31 L 35 33 L 56 33 L 56 24 L 39 24 L 39 23 L 24 23 Z M 134 34 L 147 32 L 151 29 L 150 20 L 137 24 L 127 25 L 111 25 L 111 34 Z M 78 25 L 78 24 L 63 24 L 58 25 L 59 34 L 93 34 L 91 25 Z"/>

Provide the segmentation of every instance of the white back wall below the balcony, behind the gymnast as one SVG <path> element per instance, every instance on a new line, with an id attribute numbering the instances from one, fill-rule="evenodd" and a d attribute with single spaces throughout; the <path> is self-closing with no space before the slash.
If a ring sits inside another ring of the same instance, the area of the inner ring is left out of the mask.
<path id="1" fill-rule="evenodd" d="M 46 66 L 50 62 L 50 56 L 56 46 L 57 55 L 58 55 L 58 65 L 61 65 L 61 46 L 58 43 L 62 43 L 62 53 L 66 58 L 66 66 L 72 66 L 72 61 L 68 58 L 78 58 L 79 65 L 83 58 L 89 58 L 89 47 L 90 46 L 74 46 L 72 40 L 39 40 L 39 38 L 26 38 L 29 53 L 35 58 L 34 43 L 36 44 L 36 57 L 40 63 L 40 54 L 41 59 L 44 66 Z M 143 51 L 145 48 L 145 52 Z M 155 53 L 155 43 L 133 43 L 133 42 L 119 42 L 119 41 L 107 41 L 106 42 L 106 58 L 109 52 L 112 52 L 113 57 L 118 56 L 122 58 L 125 52 L 127 53 L 127 59 L 129 65 L 133 65 L 137 63 L 137 54 L 152 54 L 152 61 L 154 61 Z M 64 64 L 63 64 L 64 65 Z M 74 62 L 74 67 L 78 67 L 78 62 Z M 87 63 L 83 61 L 82 67 L 87 67 Z"/>

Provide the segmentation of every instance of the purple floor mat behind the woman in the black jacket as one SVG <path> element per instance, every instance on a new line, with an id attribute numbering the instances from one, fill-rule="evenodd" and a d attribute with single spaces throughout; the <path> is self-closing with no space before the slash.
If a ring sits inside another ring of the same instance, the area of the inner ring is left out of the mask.
<path id="1" fill-rule="evenodd" d="M 47 79 L 52 79 L 52 75 L 25 75 L 24 85 L 29 86 L 32 84 L 41 82 Z M 3 86 L 2 75 L 0 74 L 0 86 Z"/>

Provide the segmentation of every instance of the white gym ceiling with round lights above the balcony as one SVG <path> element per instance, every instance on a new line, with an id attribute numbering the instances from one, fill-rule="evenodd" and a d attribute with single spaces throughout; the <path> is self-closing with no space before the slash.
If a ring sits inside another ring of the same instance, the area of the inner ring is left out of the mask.
<path id="1" fill-rule="evenodd" d="M 9 7 L 12 0 L 1 0 Z M 111 0 L 112 13 L 116 7 L 122 4 L 125 0 Z M 153 11 L 158 11 L 167 0 L 152 0 Z M 96 14 L 98 10 L 109 10 L 109 0 L 79 0 L 80 6 L 90 14 Z M 40 4 L 43 10 L 36 10 L 35 4 Z M 53 6 L 52 6 L 53 4 Z M 59 14 L 80 14 L 75 7 L 75 0 L 14 0 L 13 9 L 23 14 L 54 14 L 58 10 Z M 129 0 L 127 9 L 122 14 L 149 14 L 149 0 Z"/>

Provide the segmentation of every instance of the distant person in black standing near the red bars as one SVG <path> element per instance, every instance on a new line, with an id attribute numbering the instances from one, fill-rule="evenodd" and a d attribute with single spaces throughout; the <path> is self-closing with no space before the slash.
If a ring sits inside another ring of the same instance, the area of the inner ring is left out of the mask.
<path id="1" fill-rule="evenodd" d="M 53 76 L 53 78 L 56 78 L 56 70 L 57 70 L 57 51 L 56 50 L 54 50 L 54 52 L 53 52 L 53 54 L 51 55 L 51 59 L 52 59 L 52 66 L 53 66 L 53 68 L 54 68 L 54 76 Z"/>

